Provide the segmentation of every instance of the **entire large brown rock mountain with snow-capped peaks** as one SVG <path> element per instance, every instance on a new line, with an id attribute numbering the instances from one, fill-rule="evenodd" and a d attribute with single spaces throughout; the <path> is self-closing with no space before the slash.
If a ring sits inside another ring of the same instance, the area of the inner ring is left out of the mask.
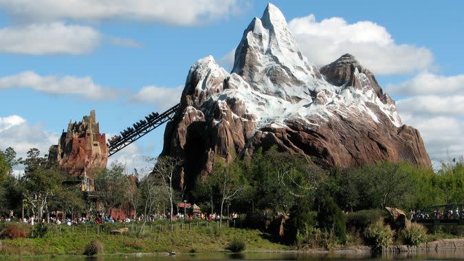
<path id="1" fill-rule="evenodd" d="M 217 156 L 231 161 L 274 145 L 329 166 L 431 167 L 419 131 L 401 124 L 373 73 L 350 54 L 318 69 L 272 4 L 243 33 L 231 73 L 212 56 L 190 68 L 180 104 L 161 155 L 184 159 L 181 186 L 210 172 Z"/>

